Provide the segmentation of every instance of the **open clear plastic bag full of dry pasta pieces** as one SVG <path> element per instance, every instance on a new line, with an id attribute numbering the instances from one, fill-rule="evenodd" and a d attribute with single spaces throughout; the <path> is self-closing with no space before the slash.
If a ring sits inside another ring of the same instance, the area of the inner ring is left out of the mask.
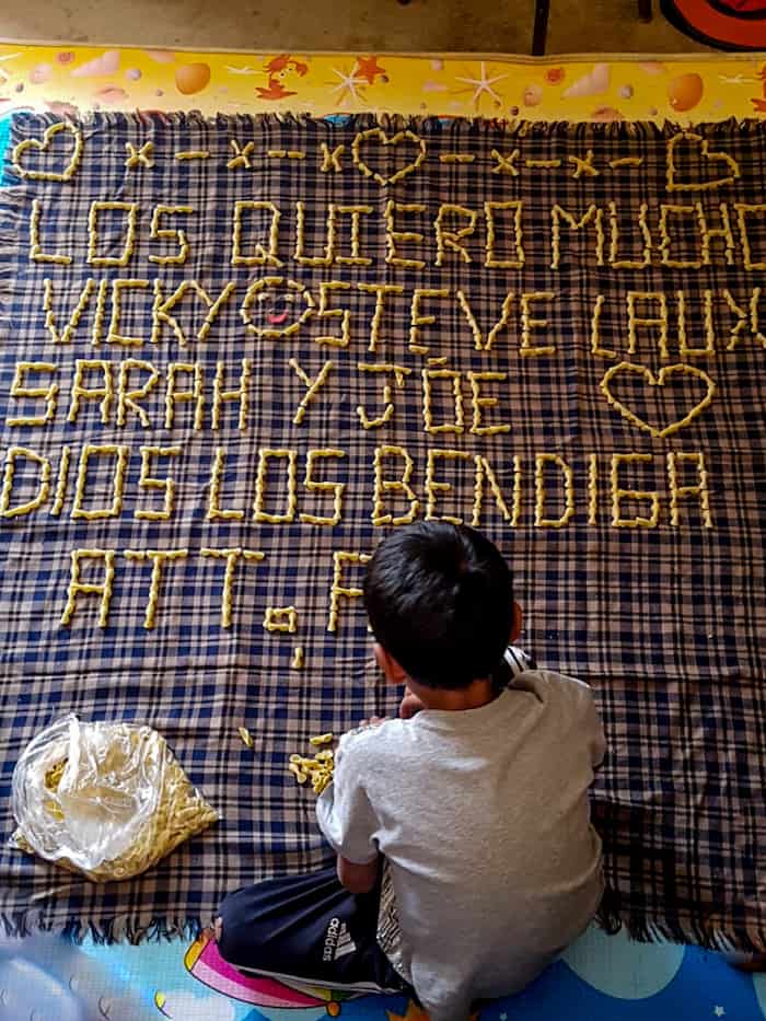
<path id="1" fill-rule="evenodd" d="M 138 875 L 218 819 L 151 727 L 76 716 L 24 750 L 11 805 L 14 847 L 94 882 Z"/>

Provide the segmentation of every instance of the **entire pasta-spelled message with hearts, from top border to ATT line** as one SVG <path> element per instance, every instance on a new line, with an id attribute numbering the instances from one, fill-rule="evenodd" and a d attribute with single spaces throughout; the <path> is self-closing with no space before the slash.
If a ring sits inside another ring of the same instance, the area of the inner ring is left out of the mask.
<path id="1" fill-rule="evenodd" d="M 655 146 L 651 195 L 607 134 L 543 159 L 501 131 L 298 149 L 198 124 L 169 150 L 126 119 L 93 194 L 89 130 L 11 156 L 34 329 L 4 376 L 0 519 L 72 536 L 49 628 L 108 629 L 130 591 L 134 628 L 172 629 L 204 578 L 221 629 L 257 612 L 302 670 L 300 593 L 253 604 L 281 544 L 333 537 L 312 613 L 334 634 L 374 543 L 419 518 L 717 527 L 706 430 L 766 348 L 766 205 L 703 135 Z"/>

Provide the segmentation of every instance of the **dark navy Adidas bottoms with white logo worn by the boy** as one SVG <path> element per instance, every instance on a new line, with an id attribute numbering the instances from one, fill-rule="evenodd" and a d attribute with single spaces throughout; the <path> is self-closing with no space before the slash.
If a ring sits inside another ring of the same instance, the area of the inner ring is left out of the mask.
<path id="1" fill-rule="evenodd" d="M 333 989 L 402 993 L 410 987 L 378 945 L 380 886 L 355 896 L 335 867 L 270 879 L 229 894 L 218 949 L 242 972 Z"/>

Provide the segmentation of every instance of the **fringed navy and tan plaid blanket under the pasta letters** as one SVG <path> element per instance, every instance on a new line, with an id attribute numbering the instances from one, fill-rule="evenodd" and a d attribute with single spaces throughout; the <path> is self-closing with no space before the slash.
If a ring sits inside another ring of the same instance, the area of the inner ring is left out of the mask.
<path id="1" fill-rule="evenodd" d="M 3 827 L 69 711 L 158 728 L 222 821 L 106 886 L 3 848 L 9 930 L 170 933 L 325 862 L 286 759 L 394 708 L 361 555 L 430 514 L 595 687 L 605 913 L 766 947 L 765 165 L 759 124 L 16 117 Z"/>

